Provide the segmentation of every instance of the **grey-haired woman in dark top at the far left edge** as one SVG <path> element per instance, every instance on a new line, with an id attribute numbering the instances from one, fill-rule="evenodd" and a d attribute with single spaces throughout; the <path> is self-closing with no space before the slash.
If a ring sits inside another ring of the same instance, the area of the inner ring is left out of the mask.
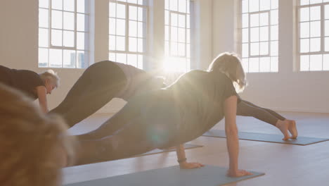
<path id="1" fill-rule="evenodd" d="M 16 70 L 0 66 L 0 82 L 24 92 L 32 99 L 39 99 L 39 105 L 47 113 L 48 104 L 46 94 L 51 94 L 59 85 L 59 77 L 53 70 L 35 73 L 31 70 Z"/>

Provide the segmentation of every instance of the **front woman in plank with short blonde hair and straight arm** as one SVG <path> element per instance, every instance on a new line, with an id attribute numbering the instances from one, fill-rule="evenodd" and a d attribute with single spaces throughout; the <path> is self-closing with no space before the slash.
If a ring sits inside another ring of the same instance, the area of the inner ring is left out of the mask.
<path id="1" fill-rule="evenodd" d="M 228 61 L 231 68 L 217 68 L 220 61 Z M 228 175 L 250 175 L 238 169 L 237 93 L 232 81 L 243 89 L 245 73 L 235 54 L 224 53 L 213 61 L 209 71 L 192 70 L 165 89 L 132 97 L 100 128 L 78 136 L 82 148 L 77 164 L 179 146 L 199 137 L 225 116 Z"/>

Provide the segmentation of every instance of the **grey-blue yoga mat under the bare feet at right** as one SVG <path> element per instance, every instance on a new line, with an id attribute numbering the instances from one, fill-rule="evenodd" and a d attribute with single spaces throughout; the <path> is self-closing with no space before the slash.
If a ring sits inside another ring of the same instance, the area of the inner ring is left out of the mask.
<path id="1" fill-rule="evenodd" d="M 208 132 L 205 132 L 205 134 L 203 134 L 202 136 L 226 138 L 225 130 L 209 130 Z M 318 138 L 318 137 L 297 137 L 297 139 L 289 139 L 287 141 L 284 141 L 282 140 L 282 138 L 283 135 L 271 135 L 271 134 L 262 134 L 262 133 L 254 133 L 254 132 L 239 132 L 240 140 L 251 140 L 251 141 L 259 141 L 259 142 L 307 145 L 307 144 L 315 144 L 318 142 L 325 142 L 329 140 L 327 138 Z"/>

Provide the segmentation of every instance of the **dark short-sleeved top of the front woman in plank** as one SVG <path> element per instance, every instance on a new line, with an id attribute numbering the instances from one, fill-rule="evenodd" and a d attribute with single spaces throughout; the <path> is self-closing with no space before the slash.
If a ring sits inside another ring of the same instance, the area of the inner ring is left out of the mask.
<path id="1" fill-rule="evenodd" d="M 128 105 L 140 110 L 141 123 L 148 125 L 145 135 L 155 140 L 156 147 L 171 147 L 216 125 L 224 118 L 224 101 L 236 95 L 223 73 L 192 70 L 165 89 L 134 97 Z"/>

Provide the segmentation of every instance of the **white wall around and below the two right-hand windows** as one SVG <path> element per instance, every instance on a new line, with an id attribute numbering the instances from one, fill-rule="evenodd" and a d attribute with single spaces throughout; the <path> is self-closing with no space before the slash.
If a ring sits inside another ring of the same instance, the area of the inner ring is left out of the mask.
<path id="1" fill-rule="evenodd" d="M 235 50 L 238 0 L 213 0 L 213 56 Z M 329 72 L 294 71 L 294 1 L 280 0 L 279 73 L 248 73 L 243 99 L 279 111 L 329 113 Z"/>

